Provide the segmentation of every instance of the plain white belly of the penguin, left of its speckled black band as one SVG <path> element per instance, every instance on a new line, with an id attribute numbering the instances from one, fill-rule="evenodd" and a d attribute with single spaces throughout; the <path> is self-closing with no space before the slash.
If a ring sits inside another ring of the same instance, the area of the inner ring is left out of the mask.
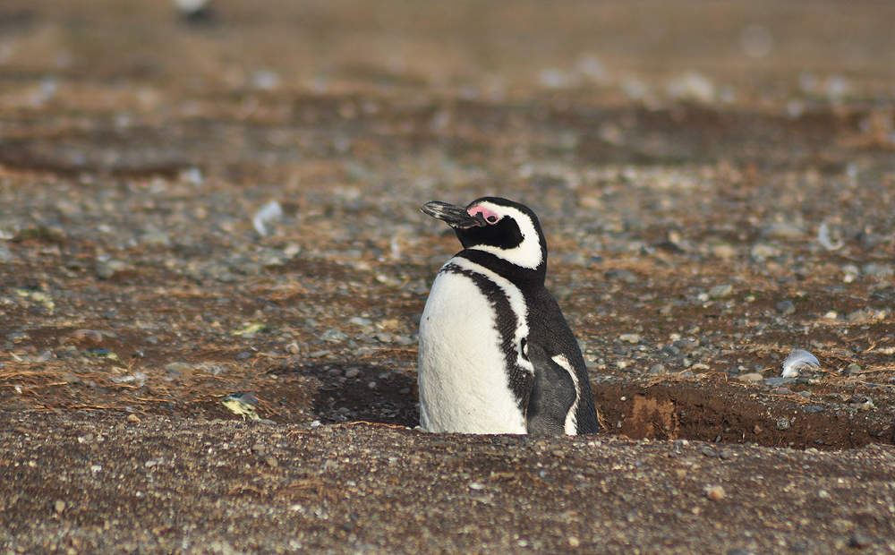
<path id="1" fill-rule="evenodd" d="M 439 274 L 420 321 L 420 423 L 426 430 L 526 432 L 495 318 L 471 278 Z"/>

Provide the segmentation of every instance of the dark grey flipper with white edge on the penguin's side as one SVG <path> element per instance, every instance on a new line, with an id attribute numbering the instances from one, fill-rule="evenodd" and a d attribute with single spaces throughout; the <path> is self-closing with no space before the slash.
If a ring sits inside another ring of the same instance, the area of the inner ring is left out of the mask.
<path id="1" fill-rule="evenodd" d="M 575 381 L 541 346 L 526 345 L 528 360 L 534 366 L 534 387 L 528 400 L 528 433 L 561 435 L 566 433 L 566 417 L 575 405 Z"/>

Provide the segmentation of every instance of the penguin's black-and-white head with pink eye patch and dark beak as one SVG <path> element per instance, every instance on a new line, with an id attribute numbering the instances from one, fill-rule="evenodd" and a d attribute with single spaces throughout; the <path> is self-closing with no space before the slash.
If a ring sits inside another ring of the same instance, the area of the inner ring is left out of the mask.
<path id="1" fill-rule="evenodd" d="M 431 201 L 422 212 L 453 227 L 465 249 L 490 252 L 524 269 L 546 269 L 541 223 L 523 204 L 498 197 L 482 197 L 465 208 Z"/>

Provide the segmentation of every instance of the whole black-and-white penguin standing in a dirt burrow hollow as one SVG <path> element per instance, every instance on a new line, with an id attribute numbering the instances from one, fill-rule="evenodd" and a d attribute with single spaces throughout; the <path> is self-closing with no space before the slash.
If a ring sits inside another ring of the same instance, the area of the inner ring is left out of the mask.
<path id="1" fill-rule="evenodd" d="M 544 287 L 547 241 L 518 202 L 432 201 L 463 251 L 439 270 L 420 321 L 420 424 L 428 431 L 598 431 L 584 357 Z"/>

